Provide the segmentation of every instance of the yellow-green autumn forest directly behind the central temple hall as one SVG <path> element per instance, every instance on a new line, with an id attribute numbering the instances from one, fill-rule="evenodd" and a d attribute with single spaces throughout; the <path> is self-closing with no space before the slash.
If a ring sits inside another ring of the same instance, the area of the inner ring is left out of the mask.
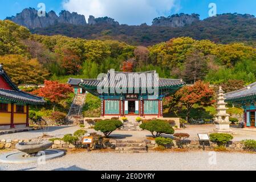
<path id="1" fill-rule="evenodd" d="M 0 60 L 17 84 L 95 78 L 108 69 L 157 70 L 161 77 L 183 78 L 187 83 L 242 81 L 243 85 L 256 80 L 256 49 L 244 43 L 180 37 L 135 47 L 116 40 L 35 35 L 9 20 L 0 21 L 0 40 Z"/>

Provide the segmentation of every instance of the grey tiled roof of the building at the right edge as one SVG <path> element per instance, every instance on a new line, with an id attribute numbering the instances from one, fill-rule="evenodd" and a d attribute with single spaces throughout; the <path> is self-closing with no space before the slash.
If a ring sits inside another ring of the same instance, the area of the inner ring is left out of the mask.
<path id="1" fill-rule="evenodd" d="M 256 98 L 256 82 L 243 89 L 226 93 L 226 101 L 243 101 L 249 98 Z"/>

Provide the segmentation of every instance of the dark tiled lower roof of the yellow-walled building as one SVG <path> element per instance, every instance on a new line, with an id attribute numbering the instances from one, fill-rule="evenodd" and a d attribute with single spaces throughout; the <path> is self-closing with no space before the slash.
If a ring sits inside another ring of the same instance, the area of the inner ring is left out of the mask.
<path id="1" fill-rule="evenodd" d="M 9 100 L 11 102 L 21 102 L 32 105 L 45 104 L 42 97 L 34 96 L 23 91 L 0 89 L 0 100 Z"/>

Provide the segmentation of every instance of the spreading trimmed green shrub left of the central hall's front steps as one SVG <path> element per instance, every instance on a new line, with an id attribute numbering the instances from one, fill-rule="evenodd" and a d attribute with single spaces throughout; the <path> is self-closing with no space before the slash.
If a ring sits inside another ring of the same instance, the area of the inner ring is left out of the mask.
<path id="1" fill-rule="evenodd" d="M 101 131 L 104 133 L 105 137 L 108 138 L 113 131 L 121 126 L 123 126 L 123 123 L 119 120 L 106 119 L 104 121 L 97 122 L 94 129 L 96 131 Z"/>

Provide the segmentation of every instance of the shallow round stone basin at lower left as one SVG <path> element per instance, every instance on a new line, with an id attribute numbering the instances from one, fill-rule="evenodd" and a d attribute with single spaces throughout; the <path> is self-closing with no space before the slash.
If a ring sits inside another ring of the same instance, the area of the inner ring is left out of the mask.
<path id="1" fill-rule="evenodd" d="M 39 151 L 44 151 L 50 148 L 54 144 L 50 141 L 39 141 L 39 142 L 21 142 L 16 144 L 17 150 L 25 152 L 27 154 L 36 154 Z"/>

